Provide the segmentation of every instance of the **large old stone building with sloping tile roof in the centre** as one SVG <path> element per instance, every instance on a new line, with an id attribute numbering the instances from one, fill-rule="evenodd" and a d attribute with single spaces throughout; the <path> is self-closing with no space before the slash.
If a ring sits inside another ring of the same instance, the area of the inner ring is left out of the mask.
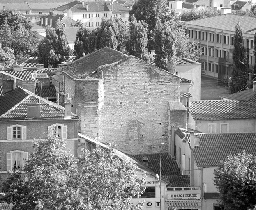
<path id="1" fill-rule="evenodd" d="M 79 130 L 131 153 L 170 150 L 170 126 L 184 126 L 180 77 L 134 56 L 102 48 L 62 69 Z M 191 81 L 189 81 L 190 83 Z M 169 147 L 167 146 L 169 145 Z"/>

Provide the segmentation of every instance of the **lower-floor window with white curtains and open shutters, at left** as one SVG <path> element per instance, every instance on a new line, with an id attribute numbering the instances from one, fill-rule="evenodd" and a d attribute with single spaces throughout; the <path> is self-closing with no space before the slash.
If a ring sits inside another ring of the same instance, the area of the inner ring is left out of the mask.
<path id="1" fill-rule="evenodd" d="M 6 153 L 6 171 L 21 170 L 27 159 L 28 153 L 24 151 L 14 150 Z"/>

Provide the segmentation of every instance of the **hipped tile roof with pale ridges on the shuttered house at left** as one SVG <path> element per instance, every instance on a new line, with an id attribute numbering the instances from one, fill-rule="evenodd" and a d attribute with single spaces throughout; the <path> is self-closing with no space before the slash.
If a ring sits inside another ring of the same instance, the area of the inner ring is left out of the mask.
<path id="1" fill-rule="evenodd" d="M 64 119 L 64 107 L 17 87 L 0 96 L 0 120 L 28 120 L 27 104 L 38 103 L 39 100 L 41 103 L 40 119 Z M 71 119 L 79 119 L 79 117 L 72 113 Z"/>

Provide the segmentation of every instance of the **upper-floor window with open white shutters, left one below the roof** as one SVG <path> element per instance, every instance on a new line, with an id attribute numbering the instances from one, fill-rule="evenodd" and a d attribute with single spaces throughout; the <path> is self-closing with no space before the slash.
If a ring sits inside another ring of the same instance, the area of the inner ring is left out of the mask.
<path id="1" fill-rule="evenodd" d="M 12 125 L 7 127 L 7 140 L 27 139 L 27 126 Z"/>

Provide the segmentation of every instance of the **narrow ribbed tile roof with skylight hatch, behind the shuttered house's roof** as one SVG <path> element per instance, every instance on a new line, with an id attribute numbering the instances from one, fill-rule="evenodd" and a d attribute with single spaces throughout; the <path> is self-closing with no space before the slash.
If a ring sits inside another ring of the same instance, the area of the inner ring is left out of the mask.
<path id="1" fill-rule="evenodd" d="M 34 79 L 31 76 L 31 73 L 35 73 L 35 70 L 3 71 L 3 72 L 9 73 L 11 75 L 14 75 L 26 81 L 34 81 Z M 50 68 L 39 69 L 37 70 L 37 73 L 47 73 L 47 75 L 50 78 L 53 76 L 53 72 Z"/>

